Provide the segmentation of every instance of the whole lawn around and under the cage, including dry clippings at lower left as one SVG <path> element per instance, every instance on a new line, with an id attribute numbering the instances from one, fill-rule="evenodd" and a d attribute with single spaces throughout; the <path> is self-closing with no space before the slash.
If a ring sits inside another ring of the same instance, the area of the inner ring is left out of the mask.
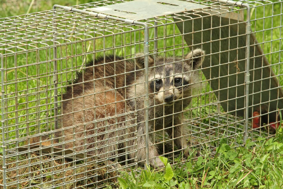
<path id="1" fill-rule="evenodd" d="M 70 1 L 64 1 L 64 0 L 52 0 L 52 1 L 44 1 L 44 0 L 35 0 L 35 1 L 1 1 L 1 11 L 0 11 L 0 18 L 8 17 L 8 16 L 16 16 L 16 15 L 22 15 L 26 13 L 33 13 L 37 11 L 43 11 L 43 10 L 50 10 L 52 9 L 53 4 L 60 4 L 65 6 L 71 6 L 76 4 L 84 4 L 84 3 L 90 3 L 91 0 L 70 0 Z M 274 1 L 278 2 L 278 1 Z M 263 4 L 264 3 L 264 4 Z M 266 55 L 267 60 L 272 64 L 271 68 L 273 69 L 273 72 L 277 76 L 276 78 L 279 80 L 280 84 L 283 83 L 283 66 L 281 66 L 283 62 L 283 44 L 282 44 L 282 23 L 283 23 L 283 15 L 282 15 L 282 2 L 272 4 L 270 1 L 257 1 L 255 3 L 258 7 L 251 9 L 251 20 L 252 20 L 252 31 L 255 31 L 255 35 L 257 37 L 257 40 L 263 49 L 263 53 Z M 281 10 L 281 11 L 280 11 Z M 130 29 L 129 29 L 130 30 Z M 165 31 L 167 28 L 165 28 Z M 173 30 L 173 29 L 169 29 Z M 176 30 L 176 28 L 175 28 Z M 161 33 L 161 36 L 163 35 L 164 31 L 159 31 Z M 169 32 L 170 33 L 170 32 Z M 140 33 L 139 33 L 140 34 Z M 140 34 L 141 35 L 141 34 Z M 131 40 L 134 40 L 134 38 L 139 38 L 140 36 L 134 35 L 132 36 Z M 153 38 L 151 36 L 151 38 Z M 113 41 L 115 43 L 115 40 L 118 42 L 122 39 L 110 39 L 110 41 Z M 172 43 L 169 38 L 166 42 L 166 44 L 161 45 L 161 49 L 165 47 L 170 48 L 178 48 L 178 46 L 172 46 Z M 178 41 L 179 38 L 174 38 L 173 41 L 176 44 L 180 45 L 181 42 Z M 123 42 L 123 44 L 131 43 L 130 42 Z M 78 43 L 78 46 L 73 46 L 71 49 L 64 49 L 65 47 L 62 47 L 60 49 L 60 56 L 64 57 L 67 56 L 68 53 L 72 54 L 76 52 L 76 54 L 83 54 L 82 56 L 78 57 L 72 57 L 70 60 L 65 62 L 62 65 L 62 70 L 65 72 L 68 72 L 66 75 L 62 75 L 62 78 L 59 78 L 59 83 L 61 81 L 62 85 L 65 85 L 66 83 L 63 83 L 63 81 L 66 81 L 66 78 L 72 78 L 74 75 L 74 70 L 68 69 L 67 64 L 71 64 L 73 59 L 76 59 L 75 62 L 82 62 L 85 63 L 87 59 L 91 58 L 91 53 L 84 54 L 84 50 L 87 49 L 87 52 L 91 52 L 93 48 L 99 49 L 101 45 L 103 44 L 92 44 L 90 43 Z M 98 46 L 98 47 L 97 47 Z M 111 47 L 111 44 L 109 45 Z M 125 54 L 132 54 L 132 51 L 135 51 L 136 49 L 139 49 L 142 47 L 142 44 L 137 44 L 135 46 L 131 47 L 124 47 L 124 50 L 121 50 L 121 52 L 116 52 L 119 55 Z M 107 49 L 107 47 L 104 47 Z M 122 49 L 122 48 L 120 48 Z M 167 49 L 166 49 L 167 50 Z M 82 51 L 82 52 L 81 52 Z M 108 52 L 113 52 L 111 49 L 108 50 Z M 126 53 L 130 52 L 130 53 Z M 34 54 L 31 55 L 31 57 L 28 57 L 29 60 L 35 59 L 35 57 L 39 58 L 40 60 L 46 60 L 49 59 L 49 52 L 43 52 L 40 55 Z M 169 54 L 172 52 L 168 52 Z M 175 53 L 175 52 L 174 52 Z M 179 54 L 178 54 L 179 53 Z M 171 54 L 170 54 L 171 55 Z M 182 55 L 180 52 L 176 52 L 176 55 Z M 23 55 L 25 56 L 25 55 Z M 20 57 L 20 56 L 19 56 Z M 12 60 L 13 62 L 14 60 Z M 22 65 L 25 65 L 25 61 L 21 58 L 19 58 L 19 64 L 22 63 Z M 21 66 L 21 65 L 17 65 Z M 74 67 L 79 67 L 80 65 L 76 65 Z M 11 66 L 12 67 L 12 66 Z M 33 75 L 36 76 L 41 73 L 41 67 L 37 67 L 36 65 L 34 67 L 29 66 L 29 68 L 33 68 L 34 70 L 26 70 L 25 67 L 23 69 L 18 69 L 18 78 L 26 78 L 26 75 L 29 75 L 32 77 Z M 50 67 L 48 67 L 47 64 L 43 64 L 43 69 L 49 70 Z M 8 80 L 13 80 L 14 74 L 13 70 L 7 72 L 7 78 Z M 23 82 L 19 82 L 18 89 L 19 92 L 25 92 L 29 91 L 28 97 L 19 97 L 18 103 L 19 107 L 21 106 L 21 103 L 23 105 L 24 111 L 19 111 L 20 114 L 18 115 L 11 115 L 18 116 L 18 123 L 16 120 L 10 120 L 9 123 L 11 125 L 16 125 L 16 127 L 9 127 L 9 134 L 13 135 L 12 131 L 15 131 L 19 129 L 22 131 L 20 133 L 15 132 L 14 136 L 9 136 L 9 140 L 13 141 L 14 139 L 18 138 L 20 135 L 25 136 L 26 132 L 28 131 L 29 134 L 35 134 L 35 129 L 38 123 L 41 124 L 41 128 L 39 130 L 44 129 L 44 124 L 48 123 L 41 123 L 38 122 L 38 117 L 45 117 L 46 111 L 42 111 L 41 108 L 38 108 L 38 104 L 42 105 L 44 102 L 48 102 L 47 97 L 53 97 L 54 94 L 53 91 L 48 92 L 42 92 L 36 95 L 36 87 L 37 85 L 43 86 L 45 85 L 44 82 L 49 83 L 49 76 L 46 76 L 46 81 L 42 80 L 29 80 L 28 84 L 26 83 L 26 80 L 23 80 Z M 205 77 L 202 78 L 205 80 Z M 43 82 L 43 83 L 40 83 Z M 38 84 L 39 83 L 39 84 Z M 207 85 L 207 82 L 203 82 L 204 86 L 202 87 L 202 93 L 207 95 L 201 95 L 198 100 L 193 101 L 192 107 L 198 107 L 199 103 L 203 103 L 204 105 L 207 105 L 209 102 L 215 102 L 215 96 L 210 92 L 211 89 Z M 27 89 L 27 85 L 34 86 L 35 88 L 29 88 Z M 20 90 L 21 89 L 21 90 Z M 60 88 L 61 89 L 61 88 Z M 13 91 L 13 89 L 10 89 Z M 62 88 L 63 90 L 63 88 Z M 63 92 L 63 91 L 61 91 Z M 38 100 L 38 99 L 40 100 Z M 195 99 L 197 99 L 196 97 Z M 28 100 L 27 100 L 28 99 Z M 29 109 L 26 108 L 26 101 L 29 103 Z M 15 103 L 13 100 L 9 101 L 9 111 L 13 112 L 15 111 L 13 109 L 13 104 Z M 42 105 L 43 109 L 51 109 L 49 104 Z M 199 109 L 193 109 L 191 113 L 191 117 L 200 117 L 200 122 L 202 124 L 203 131 L 207 131 L 207 128 L 209 126 L 212 126 L 217 128 L 219 126 L 218 124 L 222 124 L 225 127 L 231 129 L 235 127 L 234 124 L 232 126 L 229 125 L 229 123 L 225 123 L 225 119 L 219 120 L 216 119 L 217 117 L 211 116 L 205 117 L 205 115 L 210 112 L 210 108 L 220 110 L 223 112 L 223 109 L 221 107 L 219 108 L 216 105 L 212 106 L 204 106 L 200 107 Z M 208 110 L 209 109 L 209 110 Z M 28 112 L 28 113 L 27 113 Z M 34 112 L 34 113 L 32 113 Z M 27 120 L 26 114 L 32 115 Z M 40 114 L 40 115 L 38 115 Z M 223 112 L 224 114 L 224 112 Z M 34 117 L 33 117 L 34 116 Z M 225 118 L 226 114 L 224 115 Z M 220 116 L 221 117 L 221 116 Z M 229 116 L 226 116 L 228 120 Z M 232 118 L 234 119 L 234 118 Z M 28 125 L 26 122 L 28 121 Z M 215 136 L 219 136 L 219 140 L 215 141 L 214 146 L 216 148 L 210 148 L 208 142 L 200 141 L 199 145 L 196 145 L 194 150 L 197 148 L 201 148 L 201 155 L 200 157 L 193 157 L 193 155 L 196 153 L 194 151 L 191 154 L 191 157 L 188 158 L 186 162 L 181 161 L 182 158 L 176 157 L 174 161 L 170 159 L 170 157 L 161 157 L 162 161 L 165 164 L 165 168 L 162 171 L 157 171 L 151 169 L 143 169 L 143 168 L 137 168 L 138 171 L 134 170 L 123 170 L 119 172 L 112 172 L 113 174 L 117 173 L 119 174 L 118 179 L 112 179 L 110 182 L 104 182 L 102 183 L 103 187 L 105 188 L 283 188 L 283 130 L 282 128 L 279 128 L 273 137 L 269 137 L 269 134 L 261 134 L 261 130 L 259 131 L 259 135 L 253 135 L 254 138 L 248 139 L 246 141 L 246 144 L 243 144 L 243 134 L 238 133 L 240 130 L 243 130 L 243 120 L 237 121 L 234 120 L 235 123 L 239 124 L 239 128 L 234 128 L 234 135 L 231 138 L 231 140 L 228 140 L 226 138 L 221 138 L 221 134 L 217 134 L 217 129 L 215 130 Z M 211 125 L 209 125 L 211 124 Z M 18 128 L 17 128 L 18 127 Z M 198 127 L 198 126 L 196 126 Z M 196 128 L 194 128 L 196 129 Z M 263 129 L 263 127 L 261 128 Z M 232 129 L 233 130 L 233 129 Z M 264 129 L 263 129 L 264 130 Z M 44 130 L 46 131 L 46 130 Z M 4 132 L 4 131 L 2 131 Z M 47 131 L 48 132 L 48 131 Z M 218 130 L 219 132 L 219 130 Z M 204 134 L 204 133 L 203 133 Z M 201 135 L 201 134 L 200 134 Z M 204 134 L 205 135 L 205 134 Z M 2 135 L 4 136 L 4 135 Z M 1 136 L 1 137 L 2 137 Z M 4 137 L 3 137 L 4 138 Z M 2 139 L 3 139 L 2 138 Z M 210 138 L 207 138 L 209 140 Z M 203 142 L 203 143 L 202 143 Z M 22 142 L 24 143 L 24 142 Z M 21 143 L 20 143 L 21 144 Z M 16 144 L 16 145 L 20 145 Z M 241 145 L 239 145 L 241 144 Z M 14 145 L 14 144 L 13 144 Z M 0 150 L 2 152 L 2 150 Z M 211 155 L 213 154 L 213 156 Z M 26 159 L 28 158 L 28 159 Z M 180 159 L 180 161 L 179 161 Z M 35 165 L 31 169 L 22 169 L 22 170 L 14 170 L 13 167 L 24 167 L 26 164 L 32 164 L 34 162 L 41 161 L 43 162 L 42 165 Z M 1 160 L 2 162 L 2 160 Z M 10 168 L 13 171 L 10 171 L 10 175 L 8 175 L 9 179 L 12 180 L 12 177 L 21 177 L 20 179 L 24 180 L 25 178 L 32 177 L 32 174 L 36 174 L 37 171 L 41 171 L 41 174 L 48 175 L 50 172 L 55 172 L 57 174 L 57 178 L 49 178 L 46 176 L 46 178 L 41 178 L 38 180 L 32 180 L 27 181 L 20 187 L 28 187 L 32 184 L 37 184 L 38 186 L 41 186 L 43 188 L 51 188 L 53 186 L 57 186 L 57 188 L 63 187 L 60 185 L 60 182 L 62 180 L 60 177 L 64 177 L 63 181 L 66 183 L 64 186 L 65 188 L 72 188 L 73 180 L 76 178 L 82 178 L 83 176 L 87 176 L 89 179 L 87 181 L 84 180 L 78 180 L 76 183 L 76 187 L 80 187 L 81 185 L 87 185 L 86 183 L 96 182 L 97 178 L 92 177 L 92 172 L 90 170 L 96 169 L 96 171 L 101 171 L 101 175 L 103 177 L 102 173 L 105 170 L 99 170 L 97 167 L 91 167 L 87 165 L 87 163 L 80 163 L 76 164 L 73 162 L 73 164 L 68 163 L 67 161 L 63 163 L 62 166 L 65 166 L 65 170 L 62 173 L 59 173 L 58 171 L 62 170 L 62 167 L 60 167 L 58 164 L 60 164 L 60 161 L 55 159 L 53 162 L 48 161 L 48 157 L 40 157 L 37 159 L 36 155 L 32 156 L 25 156 L 22 155 L 21 159 L 18 159 L 15 157 L 9 157 L 6 159 L 6 163 L 8 163 L 8 168 Z M 0 165 L 1 168 L 3 167 L 2 164 Z M 70 166 L 70 167 L 68 167 Z M 76 170 L 72 170 L 72 166 L 76 167 Z M 51 167 L 52 170 L 49 170 L 49 167 Z M 68 170 L 70 168 L 70 170 Z M 57 171 L 57 172 L 56 172 Z M 44 173 L 43 173 L 44 172 Z M 106 171 L 107 172 L 107 171 Z M 111 176 L 110 176 L 111 177 Z M 113 178 L 116 178 L 116 175 L 113 176 Z M 111 177 L 112 178 L 112 177 Z M 0 174 L 0 183 L 2 182 L 3 176 Z M 101 179 L 101 178 L 100 178 Z M 11 181 L 7 180 L 7 182 Z M 52 182 L 51 182 L 52 181 Z M 47 184 L 40 185 L 40 182 L 46 182 Z M 3 183 L 3 182 L 2 182 Z M 100 183 L 101 184 L 101 183 Z M 91 185 L 90 185 L 91 187 Z M 95 188 L 95 186 L 92 186 Z M 101 187 L 101 186 L 100 186 Z"/>

